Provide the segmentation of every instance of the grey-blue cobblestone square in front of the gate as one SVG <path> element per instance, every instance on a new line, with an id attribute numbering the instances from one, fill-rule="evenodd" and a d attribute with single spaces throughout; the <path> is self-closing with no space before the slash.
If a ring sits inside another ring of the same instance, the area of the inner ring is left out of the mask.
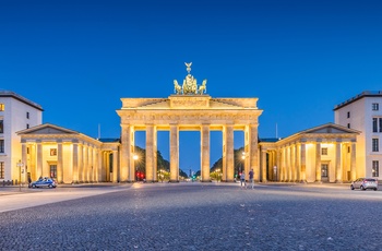
<path id="1" fill-rule="evenodd" d="M 226 183 L 96 189 L 106 192 L 0 213 L 0 249 L 382 250 L 381 191 Z M 88 191 L 33 194 L 60 190 Z"/>

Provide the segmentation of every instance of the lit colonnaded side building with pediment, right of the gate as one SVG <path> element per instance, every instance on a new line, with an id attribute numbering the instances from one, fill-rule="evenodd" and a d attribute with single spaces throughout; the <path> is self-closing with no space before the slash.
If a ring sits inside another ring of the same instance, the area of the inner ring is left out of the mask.
<path id="1" fill-rule="evenodd" d="M 327 123 L 277 142 L 261 142 L 261 181 L 343 182 L 355 180 L 359 131 Z"/>

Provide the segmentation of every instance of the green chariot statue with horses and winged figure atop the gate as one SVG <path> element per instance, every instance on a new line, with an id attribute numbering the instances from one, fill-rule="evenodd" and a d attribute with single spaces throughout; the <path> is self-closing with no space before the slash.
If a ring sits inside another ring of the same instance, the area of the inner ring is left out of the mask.
<path id="1" fill-rule="evenodd" d="M 192 62 L 189 62 L 189 63 L 186 62 L 184 64 L 187 67 L 186 70 L 187 70 L 188 74 L 187 74 L 186 79 L 183 80 L 182 86 L 180 86 L 178 84 L 177 80 L 174 80 L 174 92 L 177 95 L 180 95 L 180 94 L 183 94 L 183 95 L 200 94 L 200 95 L 202 95 L 203 93 L 206 92 L 207 80 L 204 80 L 203 84 L 198 86 L 196 79 L 194 79 L 193 75 L 190 74 Z"/>

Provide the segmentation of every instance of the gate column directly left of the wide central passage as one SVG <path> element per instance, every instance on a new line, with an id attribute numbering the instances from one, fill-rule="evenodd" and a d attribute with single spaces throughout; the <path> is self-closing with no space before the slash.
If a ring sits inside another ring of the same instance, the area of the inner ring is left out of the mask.
<path id="1" fill-rule="evenodd" d="M 179 127 L 170 124 L 170 182 L 179 182 Z"/>

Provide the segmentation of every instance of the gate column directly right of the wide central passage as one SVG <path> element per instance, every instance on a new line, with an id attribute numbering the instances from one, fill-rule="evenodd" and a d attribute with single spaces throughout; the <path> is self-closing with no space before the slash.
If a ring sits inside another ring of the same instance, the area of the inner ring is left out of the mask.
<path id="1" fill-rule="evenodd" d="M 201 127 L 201 167 L 202 182 L 210 181 L 210 124 Z"/>

